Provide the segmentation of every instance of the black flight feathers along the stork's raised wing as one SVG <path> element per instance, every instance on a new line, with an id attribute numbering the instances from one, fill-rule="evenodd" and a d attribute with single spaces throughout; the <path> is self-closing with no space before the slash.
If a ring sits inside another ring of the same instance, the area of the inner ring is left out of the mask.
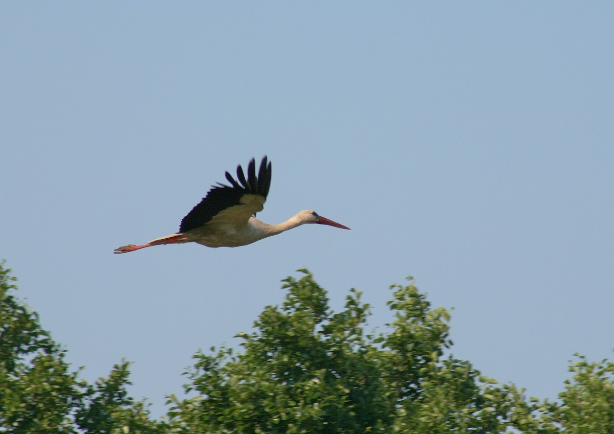
<path id="1" fill-rule="evenodd" d="M 255 160 L 252 158 L 247 167 L 247 180 L 240 165 L 236 168 L 236 177 L 241 185 L 230 173 L 226 172 L 226 179 L 230 185 L 217 183 L 212 186 L 200 204 L 192 208 L 192 211 L 182 219 L 179 232 L 187 232 L 203 226 L 226 208 L 240 205 L 244 194 L 260 194 L 266 199 L 271 186 L 271 163 L 268 162 L 265 155 L 260 163 L 258 177 L 256 177 Z"/>

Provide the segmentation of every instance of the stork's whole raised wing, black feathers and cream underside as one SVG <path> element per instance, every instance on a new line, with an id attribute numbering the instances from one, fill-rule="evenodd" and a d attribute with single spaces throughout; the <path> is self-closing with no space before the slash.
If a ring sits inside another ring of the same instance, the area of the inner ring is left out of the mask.
<path id="1" fill-rule="evenodd" d="M 230 185 L 218 183 L 212 186 L 200 204 L 182 219 L 179 232 L 195 229 L 212 220 L 247 224 L 250 216 L 262 211 L 271 186 L 271 163 L 267 161 L 266 155 L 260 163 L 258 175 L 252 158 L 247 166 L 247 178 L 241 166 L 236 168 L 236 177 L 238 181 L 226 172 Z"/>

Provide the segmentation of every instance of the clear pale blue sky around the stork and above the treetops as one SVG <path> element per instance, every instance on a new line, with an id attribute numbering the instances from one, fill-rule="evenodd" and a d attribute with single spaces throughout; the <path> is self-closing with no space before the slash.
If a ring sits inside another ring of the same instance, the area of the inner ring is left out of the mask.
<path id="1" fill-rule="evenodd" d="M 133 361 L 154 416 L 303 267 L 374 327 L 413 275 L 453 354 L 529 395 L 612 358 L 612 2 L 3 2 L 0 38 L 0 257 L 69 362 Z M 352 230 L 112 254 L 264 154 L 259 218 Z"/>

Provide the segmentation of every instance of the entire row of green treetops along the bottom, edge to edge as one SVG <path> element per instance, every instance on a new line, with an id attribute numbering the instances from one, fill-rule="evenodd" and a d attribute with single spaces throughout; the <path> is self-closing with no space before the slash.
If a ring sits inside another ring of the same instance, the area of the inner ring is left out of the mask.
<path id="1" fill-rule="evenodd" d="M 393 285 L 386 332 L 365 332 L 370 306 L 344 308 L 307 270 L 285 279 L 240 348 L 199 352 L 190 398 L 169 395 L 163 420 L 128 395 L 129 364 L 94 384 L 15 297 L 0 264 L 0 432 L 7 433 L 612 433 L 614 364 L 577 356 L 555 402 L 527 398 L 449 354 L 449 312 L 410 279 Z"/>

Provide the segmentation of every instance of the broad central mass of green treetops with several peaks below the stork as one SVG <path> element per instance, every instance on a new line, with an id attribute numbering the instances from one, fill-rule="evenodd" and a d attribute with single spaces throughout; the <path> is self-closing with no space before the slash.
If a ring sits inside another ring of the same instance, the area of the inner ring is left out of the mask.
<path id="1" fill-rule="evenodd" d="M 287 278 L 281 307 L 268 306 L 244 351 L 197 354 L 194 398 L 171 399 L 176 432 L 499 432 L 519 394 L 480 377 L 468 362 L 441 359 L 449 313 L 431 309 L 413 284 L 393 286 L 391 332 L 365 334 L 369 305 L 354 289 L 328 308 L 306 270 Z M 524 402 L 521 402 L 524 405 Z"/>

